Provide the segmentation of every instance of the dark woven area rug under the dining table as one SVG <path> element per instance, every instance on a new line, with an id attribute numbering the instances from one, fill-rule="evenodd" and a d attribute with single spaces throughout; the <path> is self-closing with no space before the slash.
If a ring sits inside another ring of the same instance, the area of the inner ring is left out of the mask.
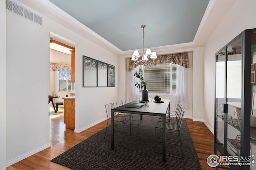
<path id="1" fill-rule="evenodd" d="M 124 143 L 115 142 L 114 150 L 111 150 L 111 126 L 108 126 L 106 140 L 105 128 L 51 161 L 74 170 L 201 170 L 186 121 L 180 128 L 183 159 L 166 155 L 166 162 L 162 161 L 162 154 L 154 151 L 157 121 L 158 117 L 143 116 L 132 135 L 125 135 Z M 178 135 L 168 133 L 167 138 L 170 137 L 178 138 Z M 122 134 L 116 133 L 115 140 L 122 141 Z M 180 155 L 178 145 L 166 145 L 168 154 Z M 162 143 L 156 143 L 156 150 L 162 152 Z"/>

